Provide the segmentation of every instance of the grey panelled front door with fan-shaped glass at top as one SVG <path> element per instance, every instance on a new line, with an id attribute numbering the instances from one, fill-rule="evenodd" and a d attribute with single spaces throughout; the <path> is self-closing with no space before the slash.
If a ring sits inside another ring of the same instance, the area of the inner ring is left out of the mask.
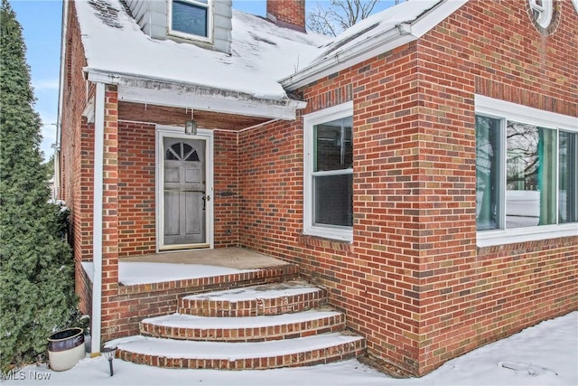
<path id="1" fill-rule="evenodd" d="M 160 249 L 209 247 L 205 139 L 161 137 L 163 240 Z"/>

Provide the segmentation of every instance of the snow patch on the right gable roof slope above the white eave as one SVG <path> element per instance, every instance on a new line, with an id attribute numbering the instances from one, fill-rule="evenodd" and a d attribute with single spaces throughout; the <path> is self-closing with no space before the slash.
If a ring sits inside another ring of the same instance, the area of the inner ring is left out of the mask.
<path id="1" fill-rule="evenodd" d="M 441 2 L 442 0 L 407 0 L 404 3 L 389 7 L 378 14 L 373 14 L 367 19 L 348 28 L 343 33 L 340 33 L 332 42 L 325 44 L 322 47 L 322 53 L 315 61 L 322 61 L 329 56 L 346 52 L 361 42 L 387 33 L 387 31 L 396 28 L 399 24 L 412 23 L 419 18 L 419 16 Z"/>

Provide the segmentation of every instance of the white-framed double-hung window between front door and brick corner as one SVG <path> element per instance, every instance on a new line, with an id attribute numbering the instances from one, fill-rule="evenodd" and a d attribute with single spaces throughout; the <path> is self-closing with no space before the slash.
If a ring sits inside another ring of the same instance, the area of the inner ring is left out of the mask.
<path id="1" fill-rule="evenodd" d="M 352 127 L 352 102 L 303 117 L 305 234 L 352 240 Z"/>

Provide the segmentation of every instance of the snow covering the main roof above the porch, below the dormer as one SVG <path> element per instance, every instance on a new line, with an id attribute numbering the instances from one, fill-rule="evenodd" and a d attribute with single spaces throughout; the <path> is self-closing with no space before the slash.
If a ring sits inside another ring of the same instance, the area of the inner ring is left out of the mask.
<path id="1" fill-rule="evenodd" d="M 286 99 L 277 80 L 311 61 L 327 39 L 278 27 L 233 10 L 231 55 L 191 43 L 147 36 L 118 0 L 75 2 L 88 66 L 149 80 L 165 80 Z"/>

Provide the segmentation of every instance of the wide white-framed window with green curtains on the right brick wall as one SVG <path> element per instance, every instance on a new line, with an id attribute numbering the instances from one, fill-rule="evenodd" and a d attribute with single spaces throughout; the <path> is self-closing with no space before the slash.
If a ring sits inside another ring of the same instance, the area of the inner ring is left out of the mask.
<path id="1" fill-rule="evenodd" d="M 476 97 L 479 241 L 578 234 L 577 123 L 576 118 Z"/>

